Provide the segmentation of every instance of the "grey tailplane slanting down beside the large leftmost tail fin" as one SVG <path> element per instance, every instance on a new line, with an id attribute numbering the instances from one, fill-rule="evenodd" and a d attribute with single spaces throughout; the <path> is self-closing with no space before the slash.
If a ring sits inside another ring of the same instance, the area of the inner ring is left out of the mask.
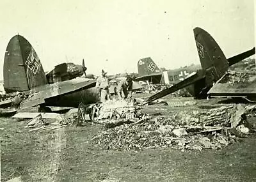
<path id="1" fill-rule="evenodd" d="M 47 84 L 44 86 L 36 87 L 35 92 L 31 94 L 29 98 L 23 100 L 20 103 L 22 109 L 33 107 L 41 103 L 45 103 L 45 99 L 52 98 L 54 96 L 65 95 L 67 93 L 72 93 L 79 91 L 81 89 L 88 89 L 96 85 L 96 80 L 88 79 L 72 79 L 63 82 L 56 82 L 54 84 Z M 33 90 L 32 90 L 33 92 Z"/>

